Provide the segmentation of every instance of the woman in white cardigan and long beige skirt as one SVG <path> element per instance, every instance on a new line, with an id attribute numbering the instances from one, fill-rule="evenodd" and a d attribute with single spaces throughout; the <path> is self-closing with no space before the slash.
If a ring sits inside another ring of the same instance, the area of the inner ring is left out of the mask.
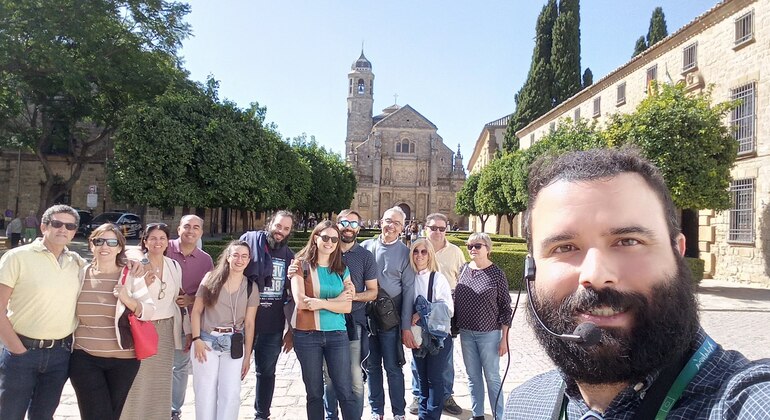
<path id="1" fill-rule="evenodd" d="M 150 223 L 142 234 L 146 279 L 155 301 L 151 320 L 158 332 L 158 353 L 142 360 L 120 417 L 123 420 L 165 419 L 171 414 L 174 349 L 181 350 L 183 346 L 183 317 L 176 304 L 182 288 L 182 267 L 166 257 L 168 239 L 165 223 Z M 189 318 L 184 320 L 184 330 L 189 331 Z"/>

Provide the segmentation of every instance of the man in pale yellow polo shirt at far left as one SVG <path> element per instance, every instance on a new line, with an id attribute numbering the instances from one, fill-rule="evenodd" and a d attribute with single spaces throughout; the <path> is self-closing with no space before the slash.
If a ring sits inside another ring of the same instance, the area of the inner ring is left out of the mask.
<path id="1" fill-rule="evenodd" d="M 67 249 L 79 221 L 72 207 L 53 206 L 43 237 L 0 259 L 0 419 L 50 419 L 59 405 L 85 265 Z"/>

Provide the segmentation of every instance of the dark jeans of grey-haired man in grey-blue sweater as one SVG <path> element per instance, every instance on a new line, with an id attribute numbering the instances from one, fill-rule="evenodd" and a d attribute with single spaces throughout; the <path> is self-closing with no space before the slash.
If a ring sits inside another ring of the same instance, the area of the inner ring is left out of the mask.
<path id="1" fill-rule="evenodd" d="M 389 331 L 378 331 L 369 337 L 369 405 L 372 413 L 384 416 L 385 390 L 382 383 L 382 366 L 388 376 L 388 394 L 394 416 L 403 416 L 406 409 L 404 400 L 404 371 L 398 364 L 398 347 L 401 332 L 398 327 Z"/>

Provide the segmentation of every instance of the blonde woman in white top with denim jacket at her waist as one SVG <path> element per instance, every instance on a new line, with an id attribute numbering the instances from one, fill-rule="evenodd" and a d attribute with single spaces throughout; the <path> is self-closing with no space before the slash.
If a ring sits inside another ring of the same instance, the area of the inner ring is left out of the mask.
<path id="1" fill-rule="evenodd" d="M 449 287 L 449 281 L 439 271 L 436 261 L 436 252 L 429 240 L 420 238 L 412 243 L 412 252 L 409 263 L 416 273 L 414 276 L 414 296 L 417 299 L 422 296 L 427 302 L 430 302 L 430 310 L 439 310 L 438 305 L 445 305 L 446 328 L 449 333 L 449 320 L 454 312 L 452 302 L 452 289 Z M 433 287 L 430 286 L 430 277 L 433 275 Z M 419 305 L 415 305 L 417 308 Z M 412 315 L 412 325 L 417 325 L 420 320 L 420 314 Z M 441 418 L 441 411 L 444 409 L 444 372 L 449 365 L 449 355 L 452 354 L 452 338 L 449 337 L 443 341 L 443 346 L 438 351 L 430 351 L 430 347 L 425 343 L 425 338 L 429 335 L 422 334 L 423 346 L 412 350 L 414 362 L 417 366 L 417 381 L 420 384 L 420 406 L 417 415 L 422 419 L 438 420 Z"/>

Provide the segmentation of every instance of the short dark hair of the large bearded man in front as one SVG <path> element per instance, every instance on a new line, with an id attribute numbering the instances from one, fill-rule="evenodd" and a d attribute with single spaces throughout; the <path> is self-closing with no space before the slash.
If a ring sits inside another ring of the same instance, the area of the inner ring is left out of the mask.
<path id="1" fill-rule="evenodd" d="M 532 164 L 529 171 L 527 210 L 524 213 L 524 236 L 532 251 L 532 209 L 540 191 L 557 181 L 580 182 L 613 178 L 623 173 L 641 176 L 663 204 L 672 247 L 680 232 L 676 206 L 658 168 L 643 158 L 639 149 L 591 149 L 569 152 L 561 156 L 546 155 Z"/>

